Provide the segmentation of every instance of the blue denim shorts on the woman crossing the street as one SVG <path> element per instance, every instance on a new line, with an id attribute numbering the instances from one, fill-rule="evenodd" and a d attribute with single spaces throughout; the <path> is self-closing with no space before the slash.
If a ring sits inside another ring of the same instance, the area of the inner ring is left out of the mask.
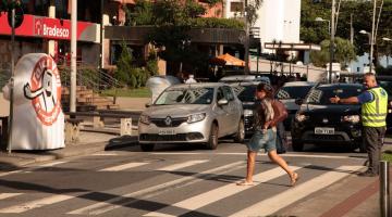
<path id="1" fill-rule="evenodd" d="M 277 130 L 268 129 L 266 133 L 255 130 L 247 143 L 247 148 L 252 152 L 258 152 L 260 149 L 265 149 L 267 153 L 277 150 Z"/>

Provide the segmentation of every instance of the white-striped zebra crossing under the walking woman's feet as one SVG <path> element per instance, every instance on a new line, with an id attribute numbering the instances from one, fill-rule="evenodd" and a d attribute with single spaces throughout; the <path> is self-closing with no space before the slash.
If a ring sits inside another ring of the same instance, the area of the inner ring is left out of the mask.
<path id="1" fill-rule="evenodd" d="M 111 156 L 111 155 L 95 155 Z M 112 155 L 115 156 L 115 155 Z M 35 168 L 16 170 L 2 174 L 3 177 L 17 175 L 28 176 L 21 171 L 34 171 L 45 167 L 61 167 L 69 162 L 59 161 Z M 224 165 L 213 164 L 213 158 L 189 158 L 186 161 L 172 161 L 162 164 L 158 161 L 132 161 L 119 162 L 118 165 L 106 165 L 97 168 L 94 173 L 117 173 L 117 171 L 157 171 L 155 176 L 166 176 L 163 183 L 127 183 L 102 190 L 102 194 L 112 195 L 106 200 L 85 200 L 86 203 L 72 203 L 73 200 L 90 199 L 89 195 L 96 192 L 71 192 L 71 193 L 41 193 L 37 191 L 37 195 L 32 197 L 34 192 L 0 191 L 0 216 L 7 214 L 28 214 L 28 212 L 37 212 L 40 208 L 57 206 L 66 207 L 63 215 L 77 216 L 113 216 L 112 213 L 119 209 L 138 209 L 137 216 L 186 216 L 192 212 L 208 210 L 211 212 L 213 204 L 224 206 L 229 200 L 244 197 L 252 192 L 261 191 L 261 189 L 272 189 L 279 183 L 278 190 L 270 190 L 270 193 L 264 192 L 262 197 L 249 200 L 244 206 L 231 207 L 231 212 L 226 216 L 262 216 L 273 215 L 281 208 L 290 206 L 317 191 L 320 191 L 347 176 L 363 169 L 363 166 L 343 165 L 335 167 L 324 167 L 322 171 L 316 173 L 314 176 L 304 176 L 299 183 L 291 188 L 284 184 L 289 183 L 289 176 L 283 169 L 273 164 L 261 163 L 264 169 L 254 176 L 254 186 L 238 187 L 236 181 L 241 180 L 246 169 L 246 162 L 236 158 Z M 299 175 L 310 174 L 309 164 L 296 164 L 290 167 Z M 327 169 L 326 169 L 327 168 Z M 314 168 L 313 168 L 314 169 Z M 186 176 L 180 176 L 176 173 L 187 173 Z M 151 173 L 152 174 L 152 173 Z M 107 176 L 107 175 L 106 175 Z M 228 180 L 222 180 L 225 177 Z M 137 186 L 138 184 L 138 186 Z M 135 186 L 136 190 L 135 190 Z M 187 192 L 188 196 L 183 196 L 183 192 Z M 180 195 L 177 199 L 172 195 Z M 20 199 L 20 200 L 17 200 Z M 30 199 L 29 201 L 27 199 Z M 135 205 L 140 201 L 160 202 L 159 207 L 143 209 Z M 47 210 L 47 209 L 46 209 Z M 260 213 L 261 212 L 261 213 Z M 207 213 L 207 212 L 206 212 Z M 60 215 L 54 210 L 53 215 Z M 218 213 L 208 213 L 208 215 L 219 216 Z M 192 215 L 189 215 L 192 216 Z"/>

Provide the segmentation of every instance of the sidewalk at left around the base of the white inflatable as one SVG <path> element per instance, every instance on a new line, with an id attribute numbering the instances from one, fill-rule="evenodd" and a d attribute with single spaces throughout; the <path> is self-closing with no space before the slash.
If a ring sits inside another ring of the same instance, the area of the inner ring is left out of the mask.
<path id="1" fill-rule="evenodd" d="M 0 152 L 0 171 L 17 169 L 28 164 L 87 155 L 115 146 L 136 144 L 137 136 L 120 137 L 101 132 L 81 131 L 79 142 L 66 144 L 64 149 L 51 151 L 12 151 L 10 154 Z"/>

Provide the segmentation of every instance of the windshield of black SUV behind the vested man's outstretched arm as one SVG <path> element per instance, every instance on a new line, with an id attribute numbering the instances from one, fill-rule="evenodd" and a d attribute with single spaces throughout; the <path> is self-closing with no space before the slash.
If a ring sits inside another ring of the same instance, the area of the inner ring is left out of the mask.
<path id="1" fill-rule="evenodd" d="M 363 88 L 360 86 L 329 86 L 311 89 L 305 102 L 309 104 L 331 104 L 330 98 L 338 95 L 339 98 L 351 98 L 360 94 Z"/>

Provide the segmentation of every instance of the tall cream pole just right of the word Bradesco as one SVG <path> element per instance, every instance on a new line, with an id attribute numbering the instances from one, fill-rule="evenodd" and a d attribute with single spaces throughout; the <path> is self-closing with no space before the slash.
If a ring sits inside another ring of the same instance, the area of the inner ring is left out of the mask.
<path id="1" fill-rule="evenodd" d="M 71 94 L 70 112 L 76 112 L 76 21 L 77 0 L 71 2 Z"/>

